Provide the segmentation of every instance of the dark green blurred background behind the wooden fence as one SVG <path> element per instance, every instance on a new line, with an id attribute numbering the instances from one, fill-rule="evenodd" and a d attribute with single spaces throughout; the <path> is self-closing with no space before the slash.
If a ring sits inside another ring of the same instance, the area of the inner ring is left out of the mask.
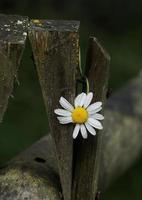
<path id="1" fill-rule="evenodd" d="M 88 36 L 94 35 L 111 55 L 109 85 L 115 92 L 142 68 L 141 0 L 0 0 L 0 12 L 30 18 L 80 20 L 83 65 Z M 0 125 L 0 164 L 48 132 L 48 122 L 31 48 L 26 51 L 13 97 Z M 141 199 L 142 161 L 120 177 L 104 199 Z"/>

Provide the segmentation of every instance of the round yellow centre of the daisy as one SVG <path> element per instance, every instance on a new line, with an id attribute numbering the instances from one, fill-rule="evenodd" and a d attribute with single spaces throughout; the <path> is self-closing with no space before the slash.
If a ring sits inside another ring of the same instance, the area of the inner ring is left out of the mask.
<path id="1" fill-rule="evenodd" d="M 77 107 L 72 112 L 72 119 L 74 123 L 82 124 L 88 119 L 88 112 L 82 107 Z"/>

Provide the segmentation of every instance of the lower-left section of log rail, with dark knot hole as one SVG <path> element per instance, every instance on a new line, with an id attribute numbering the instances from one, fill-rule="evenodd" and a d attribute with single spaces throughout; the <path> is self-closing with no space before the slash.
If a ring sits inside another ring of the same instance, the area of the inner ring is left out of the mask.
<path id="1" fill-rule="evenodd" d="M 0 199 L 61 200 L 57 171 L 53 141 L 45 137 L 1 170 Z"/>

